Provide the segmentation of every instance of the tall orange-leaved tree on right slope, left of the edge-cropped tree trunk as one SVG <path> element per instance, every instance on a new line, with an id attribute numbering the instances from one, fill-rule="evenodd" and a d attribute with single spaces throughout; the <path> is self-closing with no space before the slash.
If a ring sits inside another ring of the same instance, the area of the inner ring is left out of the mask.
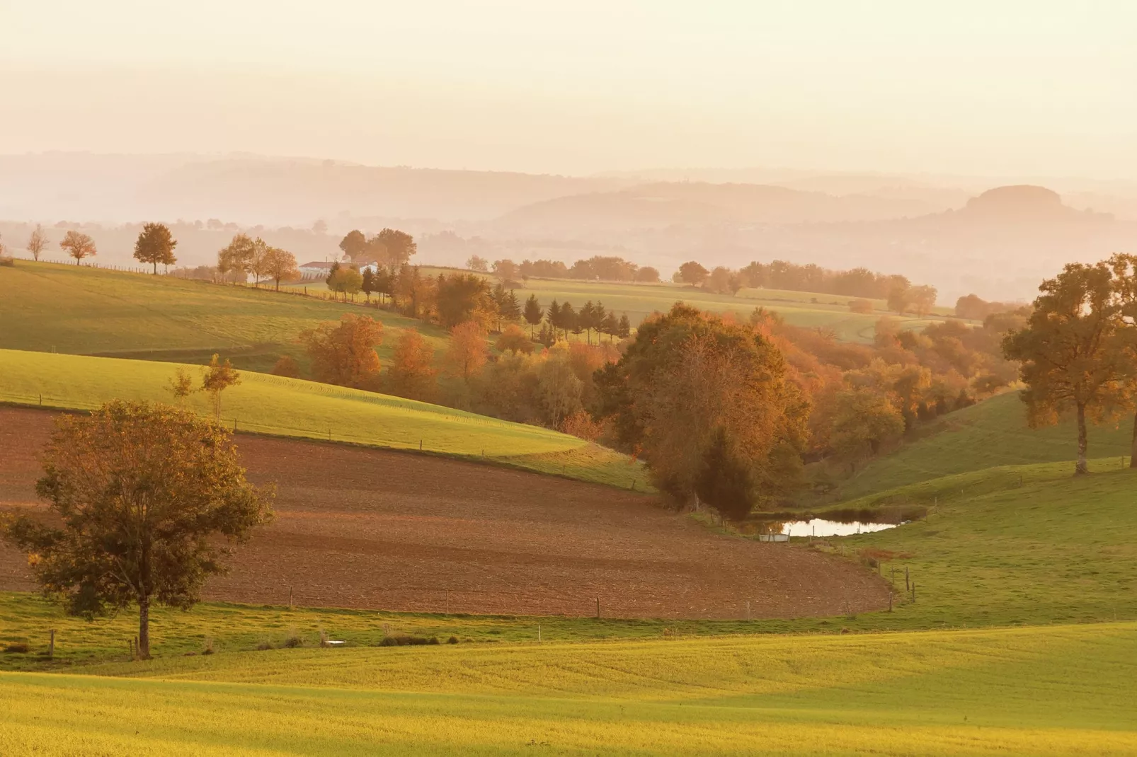
<path id="1" fill-rule="evenodd" d="M 1121 308 L 1105 263 L 1070 263 L 1039 285 L 1027 326 L 1003 340 L 1003 352 L 1022 363 L 1022 401 L 1031 426 L 1052 425 L 1072 409 L 1078 424 L 1074 474 L 1089 473 L 1087 418 L 1107 414 L 1131 369 Z"/>

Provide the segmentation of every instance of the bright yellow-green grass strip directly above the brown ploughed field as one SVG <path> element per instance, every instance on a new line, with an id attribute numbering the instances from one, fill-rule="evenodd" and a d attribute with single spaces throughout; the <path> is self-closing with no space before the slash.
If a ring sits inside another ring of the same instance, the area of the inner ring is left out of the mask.
<path id="1" fill-rule="evenodd" d="M 168 381 L 198 366 L 78 355 L 0 350 L 0 401 L 93 409 L 113 400 L 172 401 Z M 222 418 L 238 431 L 418 450 L 563 474 L 629 488 L 642 467 L 612 450 L 540 426 L 331 386 L 243 372 L 222 397 Z M 207 414 L 209 398 L 189 407 Z"/>

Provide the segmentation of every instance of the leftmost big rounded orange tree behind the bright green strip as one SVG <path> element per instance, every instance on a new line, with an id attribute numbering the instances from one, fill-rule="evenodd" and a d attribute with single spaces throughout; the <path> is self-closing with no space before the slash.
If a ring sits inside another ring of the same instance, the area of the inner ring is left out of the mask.
<path id="1" fill-rule="evenodd" d="M 367 389 L 379 374 L 375 348 L 383 343 L 383 324 L 371 316 L 345 314 L 339 323 L 322 323 L 300 334 L 316 381 Z"/>

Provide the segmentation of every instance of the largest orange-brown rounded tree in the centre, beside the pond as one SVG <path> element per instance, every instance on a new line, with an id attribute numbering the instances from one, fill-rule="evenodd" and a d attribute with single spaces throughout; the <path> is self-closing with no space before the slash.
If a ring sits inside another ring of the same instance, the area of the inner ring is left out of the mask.
<path id="1" fill-rule="evenodd" d="M 762 335 L 677 303 L 597 372 L 597 414 L 611 417 L 617 443 L 641 451 L 657 485 L 679 502 L 697 494 L 709 459 L 723 460 L 735 481 L 752 481 L 746 508 L 737 498 L 722 504 L 737 517 L 800 481 L 808 407 L 786 373 Z M 735 475 L 740 460 L 748 479 Z"/>

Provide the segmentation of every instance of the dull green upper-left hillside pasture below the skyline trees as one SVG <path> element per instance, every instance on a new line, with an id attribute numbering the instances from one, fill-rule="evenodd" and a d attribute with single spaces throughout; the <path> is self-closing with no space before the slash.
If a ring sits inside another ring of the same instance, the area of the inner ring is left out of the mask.
<path id="1" fill-rule="evenodd" d="M 418 328 L 437 349 L 441 330 L 420 321 L 314 297 L 20 260 L 0 268 L 0 348 L 205 363 L 211 352 L 268 371 L 282 355 L 301 364 L 298 338 L 345 313 L 383 322 L 380 358 Z"/>

